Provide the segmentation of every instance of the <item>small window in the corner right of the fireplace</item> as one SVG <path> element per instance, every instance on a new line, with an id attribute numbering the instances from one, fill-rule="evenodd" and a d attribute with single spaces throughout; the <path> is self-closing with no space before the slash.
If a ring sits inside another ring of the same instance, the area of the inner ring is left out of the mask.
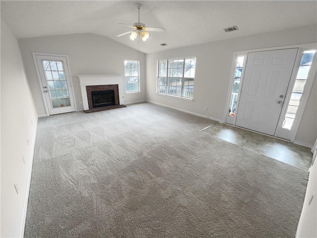
<path id="1" fill-rule="evenodd" d="M 125 91 L 140 92 L 139 61 L 124 60 Z"/>

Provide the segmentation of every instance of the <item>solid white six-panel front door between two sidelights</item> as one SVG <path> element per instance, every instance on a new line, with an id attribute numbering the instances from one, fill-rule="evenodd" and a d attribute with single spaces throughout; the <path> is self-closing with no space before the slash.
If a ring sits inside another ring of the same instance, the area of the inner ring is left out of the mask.
<path id="1" fill-rule="evenodd" d="M 248 54 L 236 125 L 274 135 L 298 49 Z"/>

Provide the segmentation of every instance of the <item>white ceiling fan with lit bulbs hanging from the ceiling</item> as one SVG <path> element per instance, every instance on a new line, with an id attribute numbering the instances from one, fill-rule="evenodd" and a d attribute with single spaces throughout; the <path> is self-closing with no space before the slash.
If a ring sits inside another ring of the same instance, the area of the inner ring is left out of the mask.
<path id="1" fill-rule="evenodd" d="M 139 12 L 139 22 L 133 23 L 132 26 L 124 24 L 124 23 L 119 23 L 121 25 L 132 27 L 133 30 L 125 32 L 125 33 L 117 35 L 117 36 L 123 36 L 123 35 L 131 33 L 130 39 L 132 41 L 134 41 L 138 36 L 141 36 L 142 41 L 146 41 L 150 36 L 149 31 L 165 31 L 165 29 L 162 27 L 145 27 L 145 24 L 140 22 L 140 8 L 141 8 L 142 4 L 137 3 L 136 5 L 138 7 L 138 12 Z"/>

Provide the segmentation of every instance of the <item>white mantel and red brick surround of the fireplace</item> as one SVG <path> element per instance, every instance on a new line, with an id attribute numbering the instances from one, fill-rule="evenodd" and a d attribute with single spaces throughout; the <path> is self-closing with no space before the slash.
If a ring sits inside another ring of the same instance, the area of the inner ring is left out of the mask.
<path id="1" fill-rule="evenodd" d="M 92 92 L 113 91 L 114 106 L 123 105 L 123 75 L 77 75 L 83 97 L 84 111 L 96 109 L 93 107 Z M 98 94 L 98 93 L 97 93 Z M 106 102 L 107 99 L 104 99 Z"/>

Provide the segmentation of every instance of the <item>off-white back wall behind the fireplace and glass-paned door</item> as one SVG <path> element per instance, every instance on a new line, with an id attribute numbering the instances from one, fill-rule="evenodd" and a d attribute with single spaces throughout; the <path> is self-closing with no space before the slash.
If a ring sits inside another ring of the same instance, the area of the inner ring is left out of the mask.
<path id="1" fill-rule="evenodd" d="M 146 100 L 145 55 L 109 38 L 95 34 L 72 34 L 19 39 L 19 45 L 39 116 L 45 115 L 46 111 L 32 52 L 68 55 L 78 111 L 84 108 L 79 78 L 75 75 L 124 75 L 124 60 L 140 60 L 141 92 L 121 95 L 124 96 L 123 103 Z"/>

